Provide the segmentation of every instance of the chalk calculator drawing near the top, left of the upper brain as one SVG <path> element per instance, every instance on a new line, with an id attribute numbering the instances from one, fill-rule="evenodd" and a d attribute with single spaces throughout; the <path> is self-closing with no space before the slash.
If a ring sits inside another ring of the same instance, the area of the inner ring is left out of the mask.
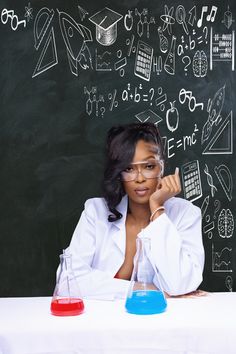
<path id="1" fill-rule="evenodd" d="M 152 70 L 153 48 L 147 43 L 138 41 L 134 74 L 149 81 Z"/>

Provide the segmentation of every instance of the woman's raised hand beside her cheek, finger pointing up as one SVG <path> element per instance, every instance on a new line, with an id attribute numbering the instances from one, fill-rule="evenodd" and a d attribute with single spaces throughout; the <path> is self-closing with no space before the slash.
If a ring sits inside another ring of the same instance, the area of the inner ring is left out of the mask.
<path id="1" fill-rule="evenodd" d="M 179 169 L 176 167 L 175 174 L 163 177 L 157 185 L 156 191 L 149 199 L 151 212 L 164 202 L 181 192 L 181 183 L 179 178 Z"/>

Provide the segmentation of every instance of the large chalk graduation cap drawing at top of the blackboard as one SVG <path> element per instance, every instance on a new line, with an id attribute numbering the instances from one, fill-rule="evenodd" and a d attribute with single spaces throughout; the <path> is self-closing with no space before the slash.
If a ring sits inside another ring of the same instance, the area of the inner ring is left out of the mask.
<path id="1" fill-rule="evenodd" d="M 113 44 L 117 37 L 117 22 L 122 19 L 122 15 L 105 7 L 89 18 L 96 25 L 96 39 L 104 45 Z"/>

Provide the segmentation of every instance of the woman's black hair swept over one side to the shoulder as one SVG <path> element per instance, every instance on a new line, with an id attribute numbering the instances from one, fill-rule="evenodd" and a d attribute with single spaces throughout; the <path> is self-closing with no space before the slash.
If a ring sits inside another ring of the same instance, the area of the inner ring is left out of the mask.
<path id="1" fill-rule="evenodd" d="M 108 209 L 112 212 L 108 216 L 108 221 L 112 222 L 122 218 L 122 214 L 116 209 L 125 195 L 120 174 L 131 163 L 139 140 L 154 143 L 157 146 L 158 155 L 164 159 L 161 136 L 155 124 L 131 123 L 113 127 L 108 131 L 107 161 L 102 185 Z"/>

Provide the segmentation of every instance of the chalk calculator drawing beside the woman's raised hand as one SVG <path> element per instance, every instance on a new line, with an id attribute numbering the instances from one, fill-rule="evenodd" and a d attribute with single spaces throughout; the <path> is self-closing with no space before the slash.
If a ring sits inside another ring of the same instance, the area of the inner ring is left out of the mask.
<path id="1" fill-rule="evenodd" d="M 189 201 L 201 198 L 202 186 L 199 162 L 197 160 L 184 164 L 182 170 L 182 184 L 184 197 Z"/>

